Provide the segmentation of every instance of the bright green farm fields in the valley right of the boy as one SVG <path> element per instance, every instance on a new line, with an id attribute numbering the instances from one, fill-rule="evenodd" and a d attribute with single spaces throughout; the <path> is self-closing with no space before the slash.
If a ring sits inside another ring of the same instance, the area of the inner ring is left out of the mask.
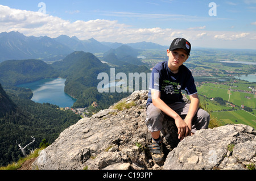
<path id="1" fill-rule="evenodd" d="M 230 85 L 232 85 L 231 82 Z M 222 125 L 246 124 L 256 128 L 256 96 L 249 93 L 251 90 L 247 88 L 249 86 L 256 85 L 255 83 L 248 84 L 248 82 L 246 84 L 237 83 L 236 91 L 233 91 L 233 87 L 231 87 L 231 94 L 229 96 L 230 86 L 222 85 L 220 82 L 203 83 L 197 87 L 201 107 L 210 112 L 210 116 L 215 117 Z M 214 101 L 217 97 L 222 98 L 226 102 L 229 100 L 229 104 L 220 104 Z M 253 110 L 250 112 L 245 111 L 241 105 Z"/>

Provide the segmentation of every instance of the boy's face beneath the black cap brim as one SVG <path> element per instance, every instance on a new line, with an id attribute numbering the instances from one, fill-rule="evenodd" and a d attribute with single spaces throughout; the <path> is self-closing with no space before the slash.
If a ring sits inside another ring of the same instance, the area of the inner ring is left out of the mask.
<path id="1" fill-rule="evenodd" d="M 167 56 L 169 57 L 168 64 L 170 64 L 174 68 L 179 68 L 179 66 L 188 59 L 188 54 L 186 50 L 181 48 L 172 51 L 167 49 Z"/>

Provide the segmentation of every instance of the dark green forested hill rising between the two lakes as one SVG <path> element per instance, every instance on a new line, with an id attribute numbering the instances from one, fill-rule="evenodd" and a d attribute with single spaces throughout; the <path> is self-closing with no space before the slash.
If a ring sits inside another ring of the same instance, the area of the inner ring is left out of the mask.
<path id="1" fill-rule="evenodd" d="M 115 67 L 115 74 L 118 72 L 123 72 L 127 75 L 129 72 L 150 72 L 143 65 L 138 66 L 123 61 L 119 61 L 119 65 L 122 66 Z M 97 79 L 98 74 L 107 73 L 110 78 L 110 66 L 102 63 L 92 53 L 73 52 L 65 57 L 63 61 L 55 62 L 52 66 L 61 72 L 61 77 L 67 79 L 65 82 L 65 92 L 77 99 L 73 107 L 88 107 L 94 101 L 97 101 L 100 104 L 100 108 L 107 108 L 130 94 L 129 92 L 123 94 L 118 92 L 98 92 L 97 85 L 102 81 Z"/>

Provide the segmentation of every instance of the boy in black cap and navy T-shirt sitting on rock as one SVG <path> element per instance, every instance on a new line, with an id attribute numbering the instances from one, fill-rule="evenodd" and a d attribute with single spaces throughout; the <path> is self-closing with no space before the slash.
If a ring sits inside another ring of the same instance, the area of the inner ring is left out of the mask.
<path id="1" fill-rule="evenodd" d="M 160 162 L 164 158 L 160 131 L 164 115 L 174 119 L 180 140 L 199 129 L 207 129 L 209 114 L 199 108 L 199 97 L 191 71 L 183 65 L 188 59 L 191 44 L 176 38 L 167 49 L 168 61 L 158 63 L 151 73 L 146 104 L 146 125 L 152 135 L 149 145 L 152 158 Z M 191 103 L 185 103 L 181 90 L 189 95 Z"/>

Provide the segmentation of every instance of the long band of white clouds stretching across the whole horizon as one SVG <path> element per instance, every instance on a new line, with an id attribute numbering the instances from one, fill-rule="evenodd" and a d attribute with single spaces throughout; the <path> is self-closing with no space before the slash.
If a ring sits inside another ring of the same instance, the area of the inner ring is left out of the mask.
<path id="1" fill-rule="evenodd" d="M 205 31 L 206 26 L 192 27 L 188 30 L 174 30 L 171 27 L 134 28 L 119 23 L 117 20 L 106 19 L 70 22 L 56 16 L 11 9 L 2 5 L 0 5 L 0 12 L 0 32 L 19 31 L 26 36 L 57 37 L 67 35 L 70 37 L 77 36 L 80 40 L 93 37 L 98 41 L 120 43 L 152 41 L 161 45 L 169 45 L 176 37 L 184 37 L 197 47 L 220 47 L 220 41 L 221 46 L 230 47 L 230 40 L 236 40 L 232 41 L 232 46 L 237 48 L 246 48 L 242 47 L 242 40 L 251 41 L 251 45 L 246 44 L 246 46 L 253 47 L 253 41 L 256 37 L 255 32 Z"/>

